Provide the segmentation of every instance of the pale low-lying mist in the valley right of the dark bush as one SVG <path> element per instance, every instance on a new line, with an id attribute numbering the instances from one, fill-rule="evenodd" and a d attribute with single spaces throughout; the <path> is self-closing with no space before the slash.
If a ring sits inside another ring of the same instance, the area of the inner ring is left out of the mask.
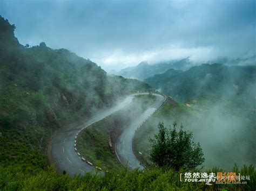
<path id="1" fill-rule="evenodd" d="M 235 114 L 233 109 L 216 104 L 201 113 L 199 123 L 191 119 L 185 126 L 203 148 L 205 167 L 231 169 L 235 163 L 255 164 L 255 123 L 246 114 Z"/>

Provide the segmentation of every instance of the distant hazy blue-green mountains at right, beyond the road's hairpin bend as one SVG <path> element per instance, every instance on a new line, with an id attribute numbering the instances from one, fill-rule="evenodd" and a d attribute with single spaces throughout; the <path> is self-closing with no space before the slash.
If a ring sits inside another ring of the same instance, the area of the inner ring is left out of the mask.
<path id="1" fill-rule="evenodd" d="M 185 72 L 170 69 L 144 81 L 179 101 L 199 95 L 254 99 L 255 66 L 225 66 L 218 63 L 192 67 Z"/>

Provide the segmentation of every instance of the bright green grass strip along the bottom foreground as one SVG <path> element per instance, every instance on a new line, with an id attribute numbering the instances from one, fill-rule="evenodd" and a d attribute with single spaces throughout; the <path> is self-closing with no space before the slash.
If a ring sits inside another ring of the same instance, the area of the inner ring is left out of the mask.
<path id="1" fill-rule="evenodd" d="M 211 186 L 205 185 L 205 182 L 181 182 L 179 173 L 184 174 L 185 171 L 176 172 L 161 168 L 145 171 L 122 169 L 118 172 L 106 173 L 104 176 L 86 173 L 84 176 L 73 178 L 60 175 L 50 167 L 25 173 L 0 166 L 0 172 L 1 190 L 254 190 L 256 187 L 256 171 L 252 166 L 232 169 L 232 172 L 250 176 L 246 185 L 213 183 Z M 226 171 L 217 168 L 207 171 L 207 173 L 211 172 Z"/>

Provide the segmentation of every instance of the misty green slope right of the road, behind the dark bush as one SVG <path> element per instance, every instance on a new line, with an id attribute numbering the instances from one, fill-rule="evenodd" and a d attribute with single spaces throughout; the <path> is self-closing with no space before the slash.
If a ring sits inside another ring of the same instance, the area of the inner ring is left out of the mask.
<path id="1" fill-rule="evenodd" d="M 167 96 L 167 100 L 138 129 L 133 139 L 133 152 L 144 166 L 152 166 L 149 138 L 158 132 L 158 122 L 183 123 L 184 129 L 193 132 L 195 142 L 199 142 L 205 162 L 203 169 L 215 166 L 231 169 L 237 163 L 255 165 L 256 153 L 251 152 L 256 144 L 255 113 L 237 107 L 217 96 L 198 96 L 179 103 Z M 217 145 L 221 144 L 220 147 Z M 142 154 L 139 154 L 142 153 Z M 226 153 L 225 157 L 223 153 Z"/>

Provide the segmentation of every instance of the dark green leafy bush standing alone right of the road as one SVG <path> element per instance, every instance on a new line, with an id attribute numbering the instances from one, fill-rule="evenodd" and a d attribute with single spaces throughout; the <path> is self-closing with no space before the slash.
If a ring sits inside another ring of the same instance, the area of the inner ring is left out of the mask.
<path id="1" fill-rule="evenodd" d="M 163 122 L 158 124 L 158 134 L 150 138 L 150 159 L 158 167 L 193 169 L 204 162 L 203 151 L 199 143 L 193 142 L 193 134 L 184 131 L 183 125 L 176 130 L 177 123 L 167 130 Z"/>

